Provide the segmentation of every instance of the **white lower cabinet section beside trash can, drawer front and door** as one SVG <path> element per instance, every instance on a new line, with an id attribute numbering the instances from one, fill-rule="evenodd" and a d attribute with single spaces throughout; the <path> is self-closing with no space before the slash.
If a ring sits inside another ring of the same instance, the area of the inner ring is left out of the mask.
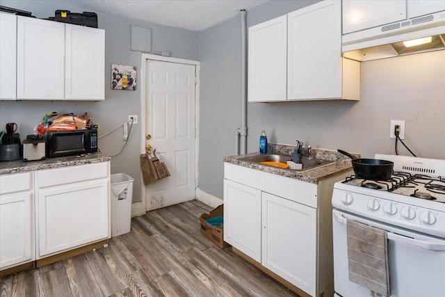
<path id="1" fill-rule="evenodd" d="M 108 238 L 109 182 L 106 162 L 37 172 L 37 259 Z"/>

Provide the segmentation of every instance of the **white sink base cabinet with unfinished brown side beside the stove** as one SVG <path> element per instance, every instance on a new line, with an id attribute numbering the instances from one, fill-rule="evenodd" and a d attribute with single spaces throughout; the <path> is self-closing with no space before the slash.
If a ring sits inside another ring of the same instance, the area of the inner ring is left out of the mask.
<path id="1" fill-rule="evenodd" d="M 312 184 L 225 163 L 224 241 L 300 296 L 333 296 L 332 187 L 351 174 Z"/>

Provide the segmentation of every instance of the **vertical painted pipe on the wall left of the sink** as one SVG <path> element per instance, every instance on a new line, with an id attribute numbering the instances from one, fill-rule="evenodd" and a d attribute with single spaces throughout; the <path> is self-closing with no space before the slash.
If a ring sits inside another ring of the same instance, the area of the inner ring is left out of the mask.
<path id="1" fill-rule="evenodd" d="M 248 96 L 247 96 L 247 30 L 246 30 L 246 19 L 247 12 L 245 10 L 240 10 L 241 13 L 241 128 L 239 129 L 240 134 L 240 152 L 245 154 L 247 152 L 247 137 L 248 137 Z"/>

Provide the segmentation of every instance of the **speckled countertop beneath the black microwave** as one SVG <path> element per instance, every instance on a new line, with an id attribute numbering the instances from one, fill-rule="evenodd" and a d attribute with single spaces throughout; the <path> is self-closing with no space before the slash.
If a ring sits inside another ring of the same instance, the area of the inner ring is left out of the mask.
<path id="1" fill-rule="evenodd" d="M 42 169 L 60 168 L 67 166 L 76 166 L 88 163 L 99 163 L 110 161 L 111 157 L 95 152 L 86 154 L 85 156 L 62 156 L 60 158 L 47 158 L 42 161 L 3 161 L 0 162 L 0 175 L 8 175 L 10 173 L 28 172 Z"/>

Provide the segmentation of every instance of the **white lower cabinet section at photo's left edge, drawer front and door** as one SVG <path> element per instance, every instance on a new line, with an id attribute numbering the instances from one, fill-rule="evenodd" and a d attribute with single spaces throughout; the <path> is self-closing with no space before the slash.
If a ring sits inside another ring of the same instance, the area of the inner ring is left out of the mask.
<path id="1" fill-rule="evenodd" d="M 0 270 L 35 260 L 32 174 L 0 176 Z"/>

